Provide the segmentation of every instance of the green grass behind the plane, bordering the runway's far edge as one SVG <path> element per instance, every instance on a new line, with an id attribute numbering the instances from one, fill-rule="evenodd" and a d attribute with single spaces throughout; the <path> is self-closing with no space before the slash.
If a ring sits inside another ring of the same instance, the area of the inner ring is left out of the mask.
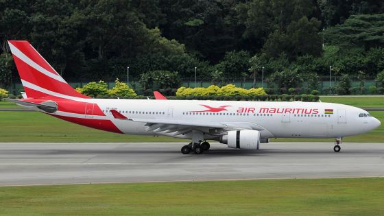
<path id="1" fill-rule="evenodd" d="M 384 112 L 370 112 L 383 124 L 365 134 L 343 139 L 344 142 L 383 142 Z M 0 142 L 70 142 L 70 143 L 126 143 L 126 142 L 174 142 L 167 136 L 136 136 L 104 132 L 56 119 L 40 112 L 0 112 Z M 333 139 L 272 139 L 271 141 L 333 142 Z"/>

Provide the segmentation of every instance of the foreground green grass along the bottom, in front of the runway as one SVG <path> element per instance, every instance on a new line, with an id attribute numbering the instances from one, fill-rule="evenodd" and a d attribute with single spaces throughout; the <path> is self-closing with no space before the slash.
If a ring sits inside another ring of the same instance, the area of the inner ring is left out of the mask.
<path id="1" fill-rule="evenodd" d="M 0 215 L 383 215 L 384 178 L 0 187 Z"/>

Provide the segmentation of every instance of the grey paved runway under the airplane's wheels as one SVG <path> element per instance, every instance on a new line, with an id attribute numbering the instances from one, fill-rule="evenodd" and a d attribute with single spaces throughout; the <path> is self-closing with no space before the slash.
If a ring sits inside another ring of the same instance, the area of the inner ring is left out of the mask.
<path id="1" fill-rule="evenodd" d="M 211 143 L 0 143 L 0 186 L 258 178 L 384 176 L 384 143 L 262 143 L 259 151 Z"/>

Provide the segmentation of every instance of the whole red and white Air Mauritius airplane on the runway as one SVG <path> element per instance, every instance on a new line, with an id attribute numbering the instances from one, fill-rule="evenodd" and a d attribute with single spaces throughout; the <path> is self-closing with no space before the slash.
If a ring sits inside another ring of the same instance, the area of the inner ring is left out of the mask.
<path id="1" fill-rule="evenodd" d="M 190 139 L 182 154 L 207 152 L 208 140 L 256 150 L 272 138 L 335 138 L 339 152 L 342 137 L 381 125 L 367 111 L 343 104 L 169 100 L 160 93 L 156 99 L 95 99 L 75 91 L 29 42 L 8 45 L 25 90 L 25 98 L 10 101 L 108 132 Z"/>

